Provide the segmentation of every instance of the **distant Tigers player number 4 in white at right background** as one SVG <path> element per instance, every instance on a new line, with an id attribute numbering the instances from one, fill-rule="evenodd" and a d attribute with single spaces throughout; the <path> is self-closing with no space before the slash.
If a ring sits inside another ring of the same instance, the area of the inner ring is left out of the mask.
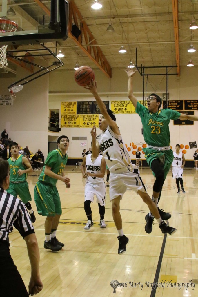
<path id="1" fill-rule="evenodd" d="M 180 194 L 180 186 L 182 193 L 186 193 L 183 188 L 183 168 L 186 163 L 184 154 L 180 152 L 180 145 L 176 144 L 175 151 L 173 152 L 173 162 L 172 162 L 172 178 L 176 178 L 176 184 L 178 187 L 178 194 Z M 180 184 L 180 185 L 179 185 Z"/>

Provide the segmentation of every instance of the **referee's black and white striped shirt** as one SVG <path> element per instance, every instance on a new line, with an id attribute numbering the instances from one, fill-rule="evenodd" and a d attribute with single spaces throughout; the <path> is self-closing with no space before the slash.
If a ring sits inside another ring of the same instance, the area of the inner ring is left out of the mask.
<path id="1" fill-rule="evenodd" d="M 13 226 L 23 238 L 35 233 L 23 202 L 0 188 L 0 244 L 4 242 L 9 245 L 8 234 Z"/>

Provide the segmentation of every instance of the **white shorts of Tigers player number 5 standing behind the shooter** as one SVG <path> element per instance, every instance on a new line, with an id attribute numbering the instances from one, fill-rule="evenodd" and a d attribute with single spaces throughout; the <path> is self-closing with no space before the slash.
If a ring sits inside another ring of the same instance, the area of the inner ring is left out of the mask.
<path id="1" fill-rule="evenodd" d="M 94 195 L 96 195 L 96 202 L 100 203 L 101 206 L 105 205 L 105 183 L 99 184 L 85 184 L 85 201 L 90 200 L 94 202 Z"/>

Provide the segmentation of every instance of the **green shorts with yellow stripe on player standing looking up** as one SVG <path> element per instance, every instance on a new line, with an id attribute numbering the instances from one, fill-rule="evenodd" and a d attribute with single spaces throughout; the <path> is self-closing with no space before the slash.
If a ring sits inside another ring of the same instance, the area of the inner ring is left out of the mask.
<path id="1" fill-rule="evenodd" d="M 47 217 L 61 215 L 61 200 L 56 186 L 50 186 L 38 181 L 34 188 L 34 201 L 38 214 Z"/>

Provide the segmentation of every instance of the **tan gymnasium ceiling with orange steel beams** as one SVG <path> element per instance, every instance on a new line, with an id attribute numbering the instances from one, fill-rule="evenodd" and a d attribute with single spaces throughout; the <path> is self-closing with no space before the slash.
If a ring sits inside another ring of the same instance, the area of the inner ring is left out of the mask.
<path id="1" fill-rule="evenodd" d="M 76 16 L 72 18 L 72 23 L 76 23 L 79 28 L 80 23 L 83 23 L 83 28 L 88 28 L 90 34 L 87 37 L 82 35 L 82 42 L 79 42 L 70 33 L 67 40 L 57 42 L 57 48 L 53 42 L 45 43 L 53 52 L 61 50 L 65 55 L 60 58 L 64 66 L 58 71 L 73 71 L 78 62 L 80 66 L 98 67 L 110 76 L 111 68 L 125 69 L 130 60 L 135 64 L 136 48 L 138 66 L 177 65 L 179 72 L 180 66 L 186 66 L 192 59 L 194 67 L 197 67 L 198 29 L 190 30 L 189 26 L 193 18 L 198 23 L 198 0 L 99 1 L 103 5 L 99 10 L 91 8 L 93 0 L 68 1 L 69 13 Z M 37 25 L 43 24 L 44 18 L 45 23 L 50 21 L 50 0 L 9 0 L 7 8 L 9 6 L 15 10 L 16 15 L 3 18 L 13 21 L 22 19 L 22 30 L 35 29 Z M 114 32 L 106 31 L 110 21 Z M 195 53 L 187 52 L 190 44 L 197 50 Z M 100 48 L 99 56 L 94 56 L 96 45 Z M 118 52 L 122 45 L 127 50 L 124 54 Z M 28 48 L 37 48 L 37 45 L 19 45 L 15 49 Z M 42 57 L 42 54 L 38 57 L 52 59 Z M 8 69 L 14 67 L 10 62 Z"/>

